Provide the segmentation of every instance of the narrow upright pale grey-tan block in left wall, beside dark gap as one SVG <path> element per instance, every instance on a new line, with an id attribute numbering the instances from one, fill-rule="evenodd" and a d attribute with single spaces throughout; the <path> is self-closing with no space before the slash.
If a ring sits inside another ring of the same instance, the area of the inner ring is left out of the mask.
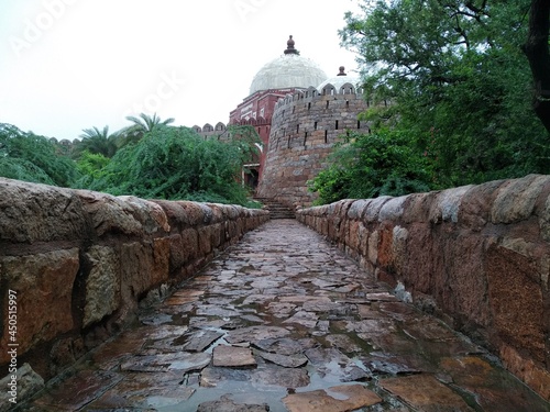
<path id="1" fill-rule="evenodd" d="M 92 246 L 86 258 L 90 271 L 86 279 L 84 327 L 114 312 L 120 302 L 120 265 L 116 252 L 108 246 Z"/>

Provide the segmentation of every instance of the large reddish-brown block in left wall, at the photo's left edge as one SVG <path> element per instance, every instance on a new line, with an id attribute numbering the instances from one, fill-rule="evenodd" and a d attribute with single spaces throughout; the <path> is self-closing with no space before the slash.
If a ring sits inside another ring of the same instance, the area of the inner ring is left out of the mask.
<path id="1" fill-rule="evenodd" d="M 16 292 L 18 353 L 23 354 L 38 342 L 47 342 L 68 332 L 73 325 L 73 285 L 79 268 L 78 249 L 45 254 L 0 257 L 3 302 L 8 289 Z M 8 319 L 8 304 L 1 309 Z M 8 322 L 3 323 L 0 363 L 9 360 Z"/>

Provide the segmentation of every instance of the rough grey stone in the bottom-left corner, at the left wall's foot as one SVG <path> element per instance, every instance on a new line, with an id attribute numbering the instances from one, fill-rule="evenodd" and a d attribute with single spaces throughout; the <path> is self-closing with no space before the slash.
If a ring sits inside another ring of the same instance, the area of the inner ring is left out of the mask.
<path id="1" fill-rule="evenodd" d="M 15 388 L 13 379 L 15 377 Z M 29 364 L 24 364 L 15 374 L 0 379 L 0 412 L 13 409 L 22 399 L 32 397 L 44 388 L 44 379 Z"/>

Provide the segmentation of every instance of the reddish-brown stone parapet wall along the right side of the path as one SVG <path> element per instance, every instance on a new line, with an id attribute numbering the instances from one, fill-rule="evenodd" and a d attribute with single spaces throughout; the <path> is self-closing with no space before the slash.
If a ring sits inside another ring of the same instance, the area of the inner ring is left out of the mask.
<path id="1" fill-rule="evenodd" d="M 550 400 L 549 176 L 342 200 L 297 219 Z"/>

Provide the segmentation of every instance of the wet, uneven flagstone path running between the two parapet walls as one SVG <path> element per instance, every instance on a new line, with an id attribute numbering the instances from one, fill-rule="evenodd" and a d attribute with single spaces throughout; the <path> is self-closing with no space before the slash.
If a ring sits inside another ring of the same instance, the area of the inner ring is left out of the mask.
<path id="1" fill-rule="evenodd" d="M 31 411 L 550 411 L 296 221 L 245 235 Z"/>

